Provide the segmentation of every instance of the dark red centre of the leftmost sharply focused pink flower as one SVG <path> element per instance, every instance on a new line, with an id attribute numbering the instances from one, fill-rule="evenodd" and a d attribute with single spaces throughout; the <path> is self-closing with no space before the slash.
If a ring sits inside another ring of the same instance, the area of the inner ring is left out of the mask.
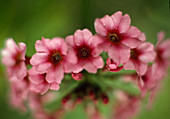
<path id="1" fill-rule="evenodd" d="M 50 57 L 50 61 L 53 63 L 53 64 L 58 64 L 62 61 L 62 55 L 60 52 L 55 52 L 51 55 Z"/>

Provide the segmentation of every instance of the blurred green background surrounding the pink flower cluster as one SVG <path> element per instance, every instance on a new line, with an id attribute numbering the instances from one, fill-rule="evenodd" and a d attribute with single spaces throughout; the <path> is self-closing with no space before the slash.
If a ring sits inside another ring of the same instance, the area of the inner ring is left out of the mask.
<path id="1" fill-rule="evenodd" d="M 131 24 L 156 43 L 156 34 L 164 31 L 170 37 L 170 2 L 168 0 L 0 0 L 0 50 L 12 37 L 25 42 L 27 55 L 35 53 L 35 41 L 41 37 L 66 37 L 77 29 L 93 33 L 94 20 L 116 11 L 128 13 Z M 0 119 L 31 119 L 8 104 L 8 82 L 0 64 Z M 136 119 L 170 119 L 170 71 L 150 110 L 143 109 Z M 81 109 L 68 112 L 64 119 L 84 119 Z"/>

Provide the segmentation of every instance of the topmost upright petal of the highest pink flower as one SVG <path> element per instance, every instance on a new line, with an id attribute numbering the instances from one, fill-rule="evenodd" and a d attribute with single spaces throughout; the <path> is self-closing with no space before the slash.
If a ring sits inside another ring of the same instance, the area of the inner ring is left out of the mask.
<path id="1" fill-rule="evenodd" d="M 122 19 L 122 12 L 118 11 L 116 13 L 114 13 L 111 18 L 113 19 L 113 23 L 114 23 L 114 28 L 117 28 L 119 26 L 120 20 Z"/>

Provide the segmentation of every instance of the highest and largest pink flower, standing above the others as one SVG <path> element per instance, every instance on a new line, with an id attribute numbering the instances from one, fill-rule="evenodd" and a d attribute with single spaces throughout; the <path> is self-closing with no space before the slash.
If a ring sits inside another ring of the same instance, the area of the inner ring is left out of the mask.
<path id="1" fill-rule="evenodd" d="M 98 48 L 107 51 L 116 64 L 126 62 L 130 57 L 130 49 L 145 41 L 145 35 L 138 28 L 130 26 L 130 23 L 129 15 L 122 16 L 120 11 L 95 20 L 98 34 L 95 39 L 102 41 Z"/>

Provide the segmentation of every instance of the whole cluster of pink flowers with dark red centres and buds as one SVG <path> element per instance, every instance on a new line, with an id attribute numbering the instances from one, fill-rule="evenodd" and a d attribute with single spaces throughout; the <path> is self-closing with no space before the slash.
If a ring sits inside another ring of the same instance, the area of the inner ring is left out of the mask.
<path id="1" fill-rule="evenodd" d="M 120 105 L 113 106 L 114 117 L 126 119 L 137 112 L 140 100 L 148 91 L 151 92 L 152 99 L 159 88 L 159 82 L 166 75 L 170 40 L 163 41 L 164 33 L 160 32 L 154 48 L 153 44 L 146 42 L 144 33 L 131 26 L 129 15 L 122 15 L 120 11 L 97 18 L 94 26 L 95 35 L 88 29 L 83 29 L 65 39 L 55 37 L 50 40 L 42 37 L 36 41 L 36 53 L 32 57 L 25 55 L 24 43 L 17 46 L 13 39 L 8 39 L 6 48 L 2 50 L 2 62 L 11 84 L 11 103 L 26 110 L 24 103 L 28 99 L 35 118 L 51 119 L 57 118 L 58 113 L 63 113 L 66 109 L 64 105 L 69 101 L 72 104 L 93 101 L 96 109 L 100 100 L 104 104 L 111 103 L 109 95 L 112 94 L 120 102 Z M 132 73 L 112 73 L 127 70 Z M 116 87 L 111 87 L 114 88 L 112 92 L 116 93 L 109 94 L 110 87 L 105 81 L 113 81 L 117 76 L 124 82 L 130 81 L 137 85 L 140 95 L 133 96 L 116 90 Z M 67 82 L 69 84 L 65 88 L 71 85 L 70 82 L 78 85 L 62 97 L 63 107 L 47 114 L 43 109 L 44 94 L 49 93 L 49 90 L 59 90 L 60 85 Z M 129 105 L 133 105 L 132 109 L 129 109 Z M 89 118 L 96 119 L 97 116 L 94 115 L 100 114 L 96 109 L 94 114 L 89 115 Z"/>

